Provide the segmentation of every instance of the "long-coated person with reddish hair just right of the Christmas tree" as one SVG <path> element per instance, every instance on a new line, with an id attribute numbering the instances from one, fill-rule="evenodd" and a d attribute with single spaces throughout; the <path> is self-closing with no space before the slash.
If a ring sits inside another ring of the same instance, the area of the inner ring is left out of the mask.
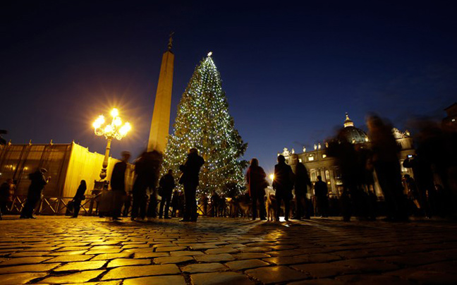
<path id="1" fill-rule="evenodd" d="M 248 192 L 252 200 L 252 220 L 257 217 L 257 201 L 259 202 L 260 220 L 264 221 L 265 216 L 265 188 L 268 187 L 268 182 L 265 179 L 267 174 L 259 166 L 257 158 L 250 161 L 248 172 L 246 173 L 246 180 L 248 181 Z"/>

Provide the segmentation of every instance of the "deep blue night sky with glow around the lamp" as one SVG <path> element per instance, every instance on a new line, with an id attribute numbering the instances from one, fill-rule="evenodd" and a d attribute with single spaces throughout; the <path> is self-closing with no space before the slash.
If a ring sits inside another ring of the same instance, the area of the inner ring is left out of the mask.
<path id="1" fill-rule="evenodd" d="M 172 30 L 171 122 L 213 51 L 245 159 L 267 172 L 284 147 L 311 150 L 333 135 L 346 111 L 361 128 L 374 111 L 404 130 L 457 101 L 455 1 L 190 2 L 1 1 L 5 138 L 104 152 L 91 124 L 118 107 L 133 132 L 112 154 L 138 155 Z"/>

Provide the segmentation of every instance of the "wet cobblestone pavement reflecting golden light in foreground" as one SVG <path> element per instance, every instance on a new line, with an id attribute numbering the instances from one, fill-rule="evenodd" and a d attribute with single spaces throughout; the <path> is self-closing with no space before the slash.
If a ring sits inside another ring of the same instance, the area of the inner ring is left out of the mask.
<path id="1" fill-rule="evenodd" d="M 457 284 L 457 224 L 0 221 L 0 284 Z"/>

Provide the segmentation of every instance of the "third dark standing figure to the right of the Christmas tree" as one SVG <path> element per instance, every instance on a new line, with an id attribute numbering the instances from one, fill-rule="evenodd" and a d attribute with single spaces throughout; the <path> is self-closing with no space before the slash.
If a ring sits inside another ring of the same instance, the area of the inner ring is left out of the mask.
<path id="1" fill-rule="evenodd" d="M 293 219 L 301 219 L 303 210 L 305 210 L 305 219 L 311 219 L 310 203 L 306 196 L 307 186 L 312 186 L 310 176 L 307 173 L 305 164 L 298 162 L 297 166 L 295 166 L 295 200 L 297 200 L 297 212 Z"/>

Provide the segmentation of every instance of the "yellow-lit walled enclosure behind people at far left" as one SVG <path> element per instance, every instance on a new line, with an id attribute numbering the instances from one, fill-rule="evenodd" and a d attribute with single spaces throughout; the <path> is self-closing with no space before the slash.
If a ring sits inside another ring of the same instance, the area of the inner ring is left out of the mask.
<path id="1" fill-rule="evenodd" d="M 17 181 L 16 195 L 27 195 L 28 175 L 39 168 L 47 169 L 51 180 L 44 187 L 47 197 L 73 197 L 81 180 L 87 183 L 86 195 L 99 180 L 104 154 L 90 152 L 75 142 L 66 144 L 6 144 L 0 148 L 0 183 L 8 178 Z M 118 159 L 109 157 L 107 178 Z M 130 171 L 128 171 L 128 175 Z M 131 181 L 131 177 L 128 177 Z"/>

